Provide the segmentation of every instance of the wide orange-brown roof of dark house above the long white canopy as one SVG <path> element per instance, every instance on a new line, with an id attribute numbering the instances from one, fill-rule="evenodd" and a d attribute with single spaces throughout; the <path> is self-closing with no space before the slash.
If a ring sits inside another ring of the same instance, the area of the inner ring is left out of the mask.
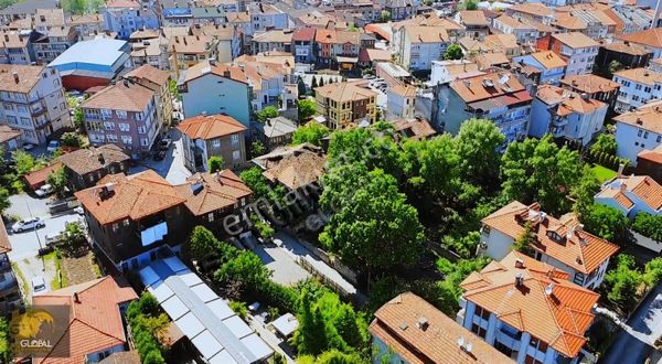
<path id="1" fill-rule="evenodd" d="M 103 197 L 102 189 L 108 184 L 111 184 L 113 191 Z M 75 195 L 102 225 L 125 218 L 139 220 L 186 201 L 152 170 L 128 176 L 121 173 L 108 174 L 96 186 L 78 191 Z"/>

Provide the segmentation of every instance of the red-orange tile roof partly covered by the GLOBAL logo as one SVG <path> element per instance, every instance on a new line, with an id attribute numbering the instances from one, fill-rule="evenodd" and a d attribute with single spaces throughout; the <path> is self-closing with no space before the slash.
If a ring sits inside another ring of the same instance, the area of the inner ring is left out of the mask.
<path id="1" fill-rule="evenodd" d="M 86 354 L 125 344 L 127 338 L 118 306 L 137 298 L 132 288 L 120 287 L 110 276 L 33 297 L 33 304 L 71 307 L 68 341 L 56 341 L 45 357 L 33 361 L 79 364 L 85 362 Z"/>

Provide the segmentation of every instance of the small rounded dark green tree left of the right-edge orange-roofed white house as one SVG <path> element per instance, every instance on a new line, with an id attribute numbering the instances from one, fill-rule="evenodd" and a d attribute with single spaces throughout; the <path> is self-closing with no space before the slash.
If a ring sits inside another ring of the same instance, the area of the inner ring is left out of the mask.
<path id="1" fill-rule="evenodd" d="M 581 214 L 581 223 L 587 232 L 622 246 L 630 222 L 620 211 L 594 203 Z"/>

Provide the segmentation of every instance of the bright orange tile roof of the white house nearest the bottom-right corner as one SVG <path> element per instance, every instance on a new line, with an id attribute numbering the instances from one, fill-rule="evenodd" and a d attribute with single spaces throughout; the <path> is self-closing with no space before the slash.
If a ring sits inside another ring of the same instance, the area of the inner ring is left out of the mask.
<path id="1" fill-rule="evenodd" d="M 517 275 L 523 278 L 521 286 L 515 285 Z M 591 309 L 599 295 L 567 278 L 552 266 L 511 251 L 468 277 L 460 287 L 466 289 L 466 300 L 538 338 L 566 357 L 575 357 L 586 342 L 584 334 L 592 323 Z"/>

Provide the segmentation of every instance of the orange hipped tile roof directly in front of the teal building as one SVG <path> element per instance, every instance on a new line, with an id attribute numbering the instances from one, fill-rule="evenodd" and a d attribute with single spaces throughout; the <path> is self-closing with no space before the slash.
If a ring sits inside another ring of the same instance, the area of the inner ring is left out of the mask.
<path id="1" fill-rule="evenodd" d="M 180 122 L 177 128 L 191 139 L 214 139 L 242 133 L 246 127 L 227 115 L 199 115 Z"/>

